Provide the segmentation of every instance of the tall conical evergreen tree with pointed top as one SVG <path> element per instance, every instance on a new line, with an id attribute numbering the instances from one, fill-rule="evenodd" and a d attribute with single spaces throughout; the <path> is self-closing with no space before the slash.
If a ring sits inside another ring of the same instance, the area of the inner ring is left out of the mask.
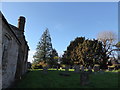
<path id="1" fill-rule="evenodd" d="M 33 56 L 34 62 L 39 63 L 44 61 L 48 63 L 50 60 L 50 55 L 52 53 L 52 43 L 49 30 L 46 29 L 42 34 L 40 41 L 38 42 L 36 53 Z"/>

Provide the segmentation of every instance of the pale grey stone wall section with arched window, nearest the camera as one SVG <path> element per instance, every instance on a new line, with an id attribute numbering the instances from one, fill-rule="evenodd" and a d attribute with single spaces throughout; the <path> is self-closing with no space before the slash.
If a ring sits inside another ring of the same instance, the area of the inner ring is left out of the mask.
<path id="1" fill-rule="evenodd" d="M 2 88 L 6 88 L 14 82 L 20 43 L 4 21 L 2 30 Z"/>

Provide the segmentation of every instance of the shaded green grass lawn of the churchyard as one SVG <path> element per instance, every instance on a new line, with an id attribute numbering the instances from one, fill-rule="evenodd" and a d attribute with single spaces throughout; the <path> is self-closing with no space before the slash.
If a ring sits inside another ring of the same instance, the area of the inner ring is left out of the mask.
<path id="1" fill-rule="evenodd" d="M 15 88 L 118 88 L 118 73 L 115 72 L 92 73 L 87 86 L 80 85 L 80 74 L 72 70 L 70 76 L 60 76 L 59 73 L 57 70 L 49 70 L 48 74 L 31 70 Z"/>

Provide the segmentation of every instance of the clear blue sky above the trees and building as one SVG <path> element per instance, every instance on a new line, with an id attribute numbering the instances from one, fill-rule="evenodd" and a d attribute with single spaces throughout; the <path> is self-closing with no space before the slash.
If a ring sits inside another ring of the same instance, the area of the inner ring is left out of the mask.
<path id="1" fill-rule="evenodd" d="M 16 26 L 19 16 L 26 17 L 25 36 L 30 47 L 29 61 L 46 28 L 59 54 L 76 37 L 93 39 L 97 33 L 106 30 L 118 33 L 117 2 L 9 2 L 2 3 L 1 11 L 7 21 Z"/>

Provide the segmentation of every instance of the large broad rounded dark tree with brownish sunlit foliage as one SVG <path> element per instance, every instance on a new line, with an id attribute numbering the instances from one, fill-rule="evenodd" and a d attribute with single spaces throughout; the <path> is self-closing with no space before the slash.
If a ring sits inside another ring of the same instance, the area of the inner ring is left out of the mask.
<path id="1" fill-rule="evenodd" d="M 72 65 L 77 62 L 85 67 L 93 67 L 94 64 L 106 67 L 107 58 L 101 42 L 95 39 L 85 40 L 85 37 L 77 37 L 70 42 L 62 57 L 62 62 L 63 64 Z"/>

